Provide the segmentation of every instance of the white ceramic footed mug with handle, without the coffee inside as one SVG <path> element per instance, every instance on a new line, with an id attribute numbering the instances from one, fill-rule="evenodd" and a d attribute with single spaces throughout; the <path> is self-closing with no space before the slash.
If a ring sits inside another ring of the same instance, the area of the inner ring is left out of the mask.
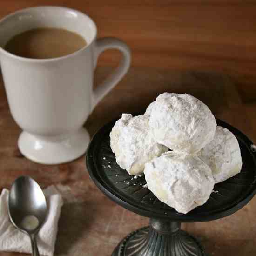
<path id="1" fill-rule="evenodd" d="M 37 27 L 74 31 L 87 41 L 87 46 L 60 58 L 41 60 L 4 50 L 15 34 Z M 82 127 L 84 122 L 128 71 L 129 47 L 121 40 L 96 39 L 96 35 L 93 20 L 65 7 L 32 7 L 0 20 L 0 67 L 11 113 L 23 129 L 18 146 L 34 162 L 57 164 L 84 154 L 90 140 Z M 94 90 L 97 58 L 110 48 L 121 51 L 121 62 Z"/>

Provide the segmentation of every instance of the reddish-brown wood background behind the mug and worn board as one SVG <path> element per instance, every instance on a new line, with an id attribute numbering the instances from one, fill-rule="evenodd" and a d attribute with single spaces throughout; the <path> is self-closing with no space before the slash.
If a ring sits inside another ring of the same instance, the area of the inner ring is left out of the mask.
<path id="1" fill-rule="evenodd" d="M 256 101 L 253 0 L 3 0 L 0 17 L 39 5 L 87 13 L 96 22 L 99 37 L 119 37 L 128 43 L 134 67 L 228 74 L 243 92 L 244 101 Z M 118 57 L 108 51 L 99 65 L 113 66 Z"/>

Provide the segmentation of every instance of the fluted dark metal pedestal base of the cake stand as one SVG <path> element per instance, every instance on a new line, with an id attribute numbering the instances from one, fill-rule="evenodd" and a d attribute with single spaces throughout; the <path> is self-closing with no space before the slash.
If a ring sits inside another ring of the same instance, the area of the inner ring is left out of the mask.
<path id="1" fill-rule="evenodd" d="M 150 226 L 125 237 L 112 256 L 205 256 L 198 241 L 180 222 L 150 219 Z"/>

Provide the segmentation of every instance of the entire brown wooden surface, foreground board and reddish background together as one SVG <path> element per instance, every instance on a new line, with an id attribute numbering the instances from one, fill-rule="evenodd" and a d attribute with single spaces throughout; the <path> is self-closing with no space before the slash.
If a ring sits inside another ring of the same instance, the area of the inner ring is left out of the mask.
<path id="1" fill-rule="evenodd" d="M 217 118 L 256 142 L 254 1 L 2 0 L 0 18 L 37 5 L 67 6 L 88 13 L 96 21 L 100 37 L 119 37 L 132 49 L 132 68 L 127 76 L 85 123 L 90 135 L 120 113 L 140 111 L 168 91 L 193 94 L 208 104 Z M 100 57 L 96 83 L 117 63 L 116 56 L 115 51 L 109 51 Z M 121 238 L 148 225 L 147 218 L 116 205 L 96 188 L 84 156 L 55 166 L 24 158 L 17 148 L 20 131 L 0 78 L 0 192 L 10 188 L 19 175 L 32 176 L 43 188 L 57 186 L 65 204 L 56 256 L 110 256 Z M 255 216 L 256 198 L 232 216 L 183 224 L 182 228 L 199 238 L 211 256 L 255 256 Z M 0 256 L 22 255 L 0 252 Z"/>

